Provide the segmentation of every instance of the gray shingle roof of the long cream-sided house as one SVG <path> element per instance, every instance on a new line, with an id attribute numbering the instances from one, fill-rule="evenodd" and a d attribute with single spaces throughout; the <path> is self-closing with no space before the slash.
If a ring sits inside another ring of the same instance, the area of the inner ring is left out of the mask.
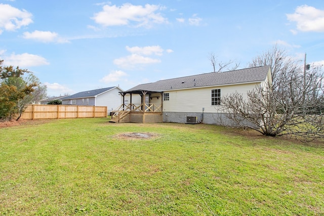
<path id="1" fill-rule="evenodd" d="M 197 87 L 209 87 L 235 83 L 264 81 L 267 77 L 269 69 L 270 66 L 261 66 L 227 71 L 222 73 L 212 72 L 173 79 L 165 79 L 151 83 L 139 84 L 136 87 L 131 88 L 125 92 L 131 92 L 136 90 L 166 91 L 174 89 L 188 89 Z"/>

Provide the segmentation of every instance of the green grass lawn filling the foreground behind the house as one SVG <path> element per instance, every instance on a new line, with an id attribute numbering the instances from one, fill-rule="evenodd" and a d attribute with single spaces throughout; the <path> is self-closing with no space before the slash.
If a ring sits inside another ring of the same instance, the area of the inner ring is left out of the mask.
<path id="1" fill-rule="evenodd" d="M 0 128 L 0 215 L 324 215 L 324 145 L 205 124 L 27 122 Z"/>

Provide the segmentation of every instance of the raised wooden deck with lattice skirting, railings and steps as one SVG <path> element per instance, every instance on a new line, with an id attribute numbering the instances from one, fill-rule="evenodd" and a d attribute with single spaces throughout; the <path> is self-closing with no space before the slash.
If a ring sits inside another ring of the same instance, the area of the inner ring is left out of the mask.
<path id="1" fill-rule="evenodd" d="M 110 122 L 163 122 L 161 105 L 157 104 L 122 104 L 112 113 Z"/>

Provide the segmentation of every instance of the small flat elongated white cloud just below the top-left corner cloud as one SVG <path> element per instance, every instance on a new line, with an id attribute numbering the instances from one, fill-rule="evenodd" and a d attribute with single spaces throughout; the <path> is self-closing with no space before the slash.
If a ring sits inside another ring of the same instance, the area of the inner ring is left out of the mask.
<path id="1" fill-rule="evenodd" d="M 24 32 L 23 37 L 25 39 L 34 39 L 41 42 L 58 42 L 59 44 L 63 44 L 65 42 L 69 42 L 67 39 L 63 39 L 59 37 L 58 33 L 51 31 L 38 31 L 35 30 L 33 32 Z"/>

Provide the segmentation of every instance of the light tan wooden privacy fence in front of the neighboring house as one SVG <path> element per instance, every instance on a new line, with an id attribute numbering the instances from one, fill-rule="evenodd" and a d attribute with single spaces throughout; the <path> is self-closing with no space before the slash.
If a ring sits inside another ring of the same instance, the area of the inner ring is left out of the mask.
<path id="1" fill-rule="evenodd" d="M 107 107 L 76 105 L 28 105 L 22 119 L 107 117 Z"/>

